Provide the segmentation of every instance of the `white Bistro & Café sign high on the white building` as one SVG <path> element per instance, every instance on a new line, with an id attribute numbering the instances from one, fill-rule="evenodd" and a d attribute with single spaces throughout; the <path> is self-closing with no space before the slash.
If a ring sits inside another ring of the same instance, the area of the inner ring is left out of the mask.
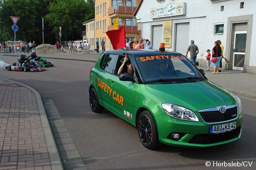
<path id="1" fill-rule="evenodd" d="M 178 3 L 150 9 L 150 18 L 161 18 L 186 14 L 186 3 Z"/>

